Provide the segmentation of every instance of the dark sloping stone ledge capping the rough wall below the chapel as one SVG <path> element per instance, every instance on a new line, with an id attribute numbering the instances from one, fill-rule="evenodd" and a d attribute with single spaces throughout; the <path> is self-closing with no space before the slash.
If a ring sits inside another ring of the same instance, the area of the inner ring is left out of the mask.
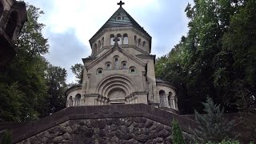
<path id="1" fill-rule="evenodd" d="M 188 126 L 192 128 L 196 126 L 196 123 L 189 118 L 183 118 L 177 114 L 159 110 L 146 104 L 75 106 L 60 110 L 46 118 L 30 122 L 26 126 L 13 130 L 12 132 L 15 136 L 13 142 L 20 142 L 69 120 L 134 117 L 149 118 L 166 126 L 171 126 L 172 118 L 176 118 L 180 122 L 181 129 L 185 132 L 189 132 Z"/>

